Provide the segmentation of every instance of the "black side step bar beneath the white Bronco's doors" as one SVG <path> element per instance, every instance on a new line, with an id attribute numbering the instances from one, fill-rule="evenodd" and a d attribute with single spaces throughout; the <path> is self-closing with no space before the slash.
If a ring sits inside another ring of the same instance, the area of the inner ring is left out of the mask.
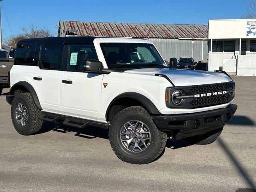
<path id="1" fill-rule="evenodd" d="M 62 123 L 66 126 L 72 126 L 76 128 L 85 128 L 88 125 L 99 126 L 100 128 L 108 129 L 109 123 L 96 122 L 81 118 L 69 117 L 59 114 L 53 114 L 48 112 L 42 112 L 39 119 L 49 122 Z"/>

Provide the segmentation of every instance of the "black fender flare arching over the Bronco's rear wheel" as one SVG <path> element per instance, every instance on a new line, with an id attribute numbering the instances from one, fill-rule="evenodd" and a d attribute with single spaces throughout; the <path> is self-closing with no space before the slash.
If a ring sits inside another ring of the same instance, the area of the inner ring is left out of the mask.
<path id="1" fill-rule="evenodd" d="M 30 85 L 28 82 L 26 81 L 20 81 L 16 84 L 14 84 L 11 89 L 10 89 L 10 92 L 9 94 L 10 95 L 14 95 L 14 91 L 16 90 L 19 90 L 21 87 L 24 87 L 26 88 L 26 90 L 28 90 L 28 92 L 30 92 L 30 94 L 32 95 L 32 98 L 37 106 L 38 109 L 42 110 L 42 107 L 40 105 L 40 102 L 39 102 L 39 99 L 38 99 L 38 96 L 36 94 L 36 91 L 34 90 L 33 86 Z"/>

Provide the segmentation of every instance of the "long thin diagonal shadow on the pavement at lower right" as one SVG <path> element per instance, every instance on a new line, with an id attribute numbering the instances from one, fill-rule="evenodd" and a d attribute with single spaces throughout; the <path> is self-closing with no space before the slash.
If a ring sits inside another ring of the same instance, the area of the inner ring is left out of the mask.
<path id="1" fill-rule="evenodd" d="M 254 180 L 251 178 L 248 171 L 243 167 L 243 165 L 239 162 L 238 158 L 235 156 L 235 154 L 230 150 L 228 145 L 222 140 L 222 138 L 218 138 L 217 142 L 220 144 L 222 150 L 225 152 L 225 154 L 228 156 L 228 158 L 231 160 L 232 164 L 240 174 L 240 176 L 246 181 L 248 186 L 250 188 L 238 188 L 236 192 L 255 192 L 256 190 L 256 184 Z"/>

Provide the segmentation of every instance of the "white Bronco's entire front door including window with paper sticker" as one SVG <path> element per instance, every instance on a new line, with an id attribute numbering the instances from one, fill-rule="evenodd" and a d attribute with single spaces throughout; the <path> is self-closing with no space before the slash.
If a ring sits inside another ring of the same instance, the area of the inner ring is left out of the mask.
<path id="1" fill-rule="evenodd" d="M 65 45 L 67 58 L 60 78 L 60 106 L 65 115 L 100 120 L 103 74 L 88 73 L 88 59 L 98 60 L 93 44 Z"/>

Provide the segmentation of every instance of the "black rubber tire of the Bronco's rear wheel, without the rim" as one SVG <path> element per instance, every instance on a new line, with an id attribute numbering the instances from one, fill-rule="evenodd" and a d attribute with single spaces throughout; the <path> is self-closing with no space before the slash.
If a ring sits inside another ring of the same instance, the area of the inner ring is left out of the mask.
<path id="1" fill-rule="evenodd" d="M 25 126 L 18 124 L 15 117 L 15 110 L 19 103 L 26 106 L 28 110 L 28 122 Z M 38 133 L 43 124 L 43 120 L 39 119 L 41 111 L 36 107 L 36 104 L 30 93 L 21 93 L 14 97 L 11 106 L 12 123 L 16 131 L 21 135 L 32 135 Z"/>

